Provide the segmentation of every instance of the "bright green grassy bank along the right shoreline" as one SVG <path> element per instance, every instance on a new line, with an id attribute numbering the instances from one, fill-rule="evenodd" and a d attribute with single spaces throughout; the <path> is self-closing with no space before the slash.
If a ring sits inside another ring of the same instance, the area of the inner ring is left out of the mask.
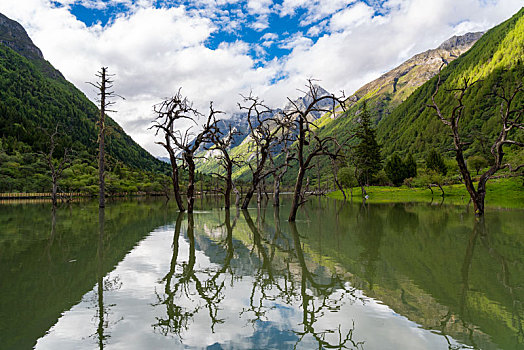
<path id="1" fill-rule="evenodd" d="M 464 205 L 469 202 L 469 194 L 463 184 L 443 186 L 444 203 Z M 395 203 L 395 202 L 440 202 L 441 192 L 438 187 L 433 188 L 433 195 L 428 188 L 408 188 L 370 186 L 366 187 L 368 202 Z M 493 179 L 486 185 L 486 207 L 488 208 L 524 208 L 524 187 L 522 178 Z M 349 197 L 349 190 L 346 190 Z M 335 199 L 343 199 L 342 192 L 329 194 Z M 362 201 L 360 188 L 353 188 L 353 200 Z"/>

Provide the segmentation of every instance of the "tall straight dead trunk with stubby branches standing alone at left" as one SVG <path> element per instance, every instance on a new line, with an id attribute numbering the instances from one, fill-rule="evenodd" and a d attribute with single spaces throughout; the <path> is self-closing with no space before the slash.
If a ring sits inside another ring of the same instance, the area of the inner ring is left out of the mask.
<path id="1" fill-rule="evenodd" d="M 100 79 L 100 81 L 97 81 L 96 83 L 90 83 L 88 84 L 94 86 L 97 89 L 97 96 L 98 100 L 100 102 L 100 116 L 98 118 L 98 186 L 99 186 L 99 207 L 104 208 L 105 207 L 105 136 L 107 131 L 106 126 L 106 113 L 107 112 L 116 112 L 114 110 L 108 109 L 108 107 L 115 104 L 114 101 L 111 101 L 112 97 L 118 96 L 120 98 L 123 98 L 122 96 L 119 96 L 115 94 L 115 92 L 112 90 L 113 88 L 113 80 L 111 77 L 113 77 L 113 74 L 107 73 L 107 67 L 102 67 L 100 71 L 98 71 L 95 76 Z"/>

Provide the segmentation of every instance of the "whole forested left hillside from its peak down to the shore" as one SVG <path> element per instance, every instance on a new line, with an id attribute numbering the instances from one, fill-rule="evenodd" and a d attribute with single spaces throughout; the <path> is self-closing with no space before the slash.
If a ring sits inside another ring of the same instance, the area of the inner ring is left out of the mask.
<path id="1" fill-rule="evenodd" d="M 20 24 L 0 15 L 0 191 L 44 191 L 46 166 L 39 153 L 47 151 L 49 134 L 55 128 L 60 132 L 57 157 L 70 147 L 76 163 L 84 163 L 83 168 L 95 165 L 98 113 L 43 58 Z M 106 150 L 111 169 L 155 173 L 168 169 L 114 120 L 108 117 L 106 124 L 110 127 Z"/>

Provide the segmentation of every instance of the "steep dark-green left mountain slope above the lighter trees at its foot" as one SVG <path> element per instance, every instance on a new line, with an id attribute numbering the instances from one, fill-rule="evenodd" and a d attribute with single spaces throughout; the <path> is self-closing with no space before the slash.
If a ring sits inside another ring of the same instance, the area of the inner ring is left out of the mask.
<path id="1" fill-rule="evenodd" d="M 94 156 L 98 113 L 97 106 L 44 59 L 24 28 L 0 14 L 0 146 L 11 151 L 43 150 L 48 140 L 42 129 L 59 125 L 65 134 L 63 145 Z M 111 128 L 107 141 L 110 159 L 143 170 L 168 168 L 113 119 L 106 120 Z"/>

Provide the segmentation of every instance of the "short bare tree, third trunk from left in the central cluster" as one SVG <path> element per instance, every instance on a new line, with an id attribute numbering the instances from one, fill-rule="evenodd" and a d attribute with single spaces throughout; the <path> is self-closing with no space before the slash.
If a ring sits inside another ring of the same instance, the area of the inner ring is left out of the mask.
<path id="1" fill-rule="evenodd" d="M 225 175 L 215 173 L 214 175 L 223 179 L 226 183 L 224 193 L 224 209 L 229 209 L 231 207 L 231 191 L 235 188 L 233 184 L 233 166 L 237 165 L 239 162 L 239 157 L 233 157 L 229 154 L 231 144 L 233 142 L 233 137 L 235 135 L 240 135 L 240 132 L 234 129 L 229 125 L 229 131 L 227 135 L 224 135 L 218 128 L 211 130 L 211 140 L 214 144 L 212 150 L 220 151 L 220 154 L 215 156 L 220 162 L 220 165 L 224 169 Z M 238 191 L 236 191 L 238 192 Z M 238 204 L 238 200 L 236 201 Z"/>

